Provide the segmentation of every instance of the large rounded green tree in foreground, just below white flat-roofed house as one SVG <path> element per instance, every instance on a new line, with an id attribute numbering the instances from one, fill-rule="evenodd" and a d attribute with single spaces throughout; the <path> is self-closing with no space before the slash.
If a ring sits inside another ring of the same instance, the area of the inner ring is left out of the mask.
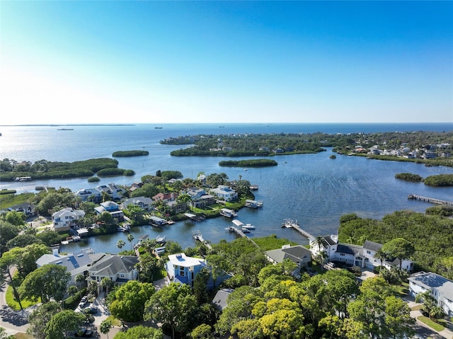
<path id="1" fill-rule="evenodd" d="M 162 323 L 175 333 L 189 333 L 195 323 L 197 301 L 188 285 L 171 283 L 163 287 L 147 301 L 145 319 Z"/>

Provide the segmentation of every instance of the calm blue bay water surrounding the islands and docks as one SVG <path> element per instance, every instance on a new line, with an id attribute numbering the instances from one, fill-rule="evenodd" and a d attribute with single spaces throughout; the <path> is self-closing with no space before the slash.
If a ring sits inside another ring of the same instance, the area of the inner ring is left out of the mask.
<path id="1" fill-rule="evenodd" d="M 299 243 L 306 240 L 294 230 L 281 229 L 285 218 L 297 219 L 309 233 L 336 233 L 341 215 L 357 213 L 361 217 L 381 219 L 396 210 L 412 209 L 424 212 L 430 204 L 407 200 L 409 194 L 453 199 L 453 188 L 430 188 L 423 183 L 408 183 L 394 178 L 396 173 L 410 172 L 426 177 L 439 173 L 453 173 L 453 168 L 425 167 L 415 163 L 375 161 L 355 156 L 337 156 L 329 159 L 331 149 L 320 154 L 277 156 L 278 166 L 270 168 L 222 168 L 220 158 L 171 157 L 170 151 L 180 146 L 164 146 L 159 140 L 188 134 L 269 133 L 269 132 L 385 132 L 385 131 L 451 131 L 453 124 L 227 124 L 218 125 L 155 125 L 127 126 L 74 126 L 72 131 L 61 127 L 0 127 L 1 159 L 18 161 L 77 161 L 110 157 L 113 151 L 146 149 L 149 156 L 118 159 L 120 168 L 130 168 L 134 177 L 103 178 L 101 183 L 130 184 L 145 174 L 157 170 L 176 170 L 185 178 L 197 173 L 224 172 L 230 179 L 241 176 L 259 185 L 256 199 L 263 200 L 262 209 L 242 209 L 238 219 L 256 226 L 251 236 L 277 234 Z M 244 158 L 245 159 L 245 158 Z M 85 179 L 40 180 L 28 183 L 0 183 L 1 188 L 14 188 L 18 192 L 35 191 L 37 185 L 71 188 L 76 191 L 92 187 Z M 202 231 L 205 239 L 217 243 L 220 239 L 232 240 L 234 235 L 225 230 L 231 219 L 210 219 L 199 224 L 179 222 L 164 229 L 142 226 L 132 229 L 137 240 L 143 234 L 166 234 L 167 239 L 178 241 L 183 248 L 193 246 L 191 234 Z M 85 242 L 72 243 L 63 251 L 74 251 L 87 246 L 95 251 L 116 253 L 118 239 L 126 241 L 125 234 L 100 236 Z M 127 245 L 129 243 L 126 241 Z"/>

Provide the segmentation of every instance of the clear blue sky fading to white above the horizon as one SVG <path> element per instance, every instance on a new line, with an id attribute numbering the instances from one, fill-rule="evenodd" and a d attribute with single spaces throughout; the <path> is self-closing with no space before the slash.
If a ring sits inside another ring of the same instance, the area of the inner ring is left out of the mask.
<path id="1" fill-rule="evenodd" d="M 0 1 L 1 125 L 453 122 L 452 1 Z"/>

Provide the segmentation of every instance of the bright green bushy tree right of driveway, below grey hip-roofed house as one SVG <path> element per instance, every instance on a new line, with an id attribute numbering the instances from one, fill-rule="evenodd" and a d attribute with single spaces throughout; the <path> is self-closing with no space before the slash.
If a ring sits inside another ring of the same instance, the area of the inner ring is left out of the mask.
<path id="1" fill-rule="evenodd" d="M 130 280 L 116 289 L 115 300 L 109 306 L 110 312 L 122 321 L 141 321 L 145 302 L 154 292 L 152 284 Z"/>

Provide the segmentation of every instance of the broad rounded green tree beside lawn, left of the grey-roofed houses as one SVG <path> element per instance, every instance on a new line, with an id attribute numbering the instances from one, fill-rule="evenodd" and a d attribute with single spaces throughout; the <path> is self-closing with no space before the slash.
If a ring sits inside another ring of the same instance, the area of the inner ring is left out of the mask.
<path id="1" fill-rule="evenodd" d="M 19 292 L 23 298 L 31 300 L 41 298 L 42 303 L 51 299 L 62 301 L 70 277 L 71 274 L 64 266 L 43 265 L 25 277 Z"/>

